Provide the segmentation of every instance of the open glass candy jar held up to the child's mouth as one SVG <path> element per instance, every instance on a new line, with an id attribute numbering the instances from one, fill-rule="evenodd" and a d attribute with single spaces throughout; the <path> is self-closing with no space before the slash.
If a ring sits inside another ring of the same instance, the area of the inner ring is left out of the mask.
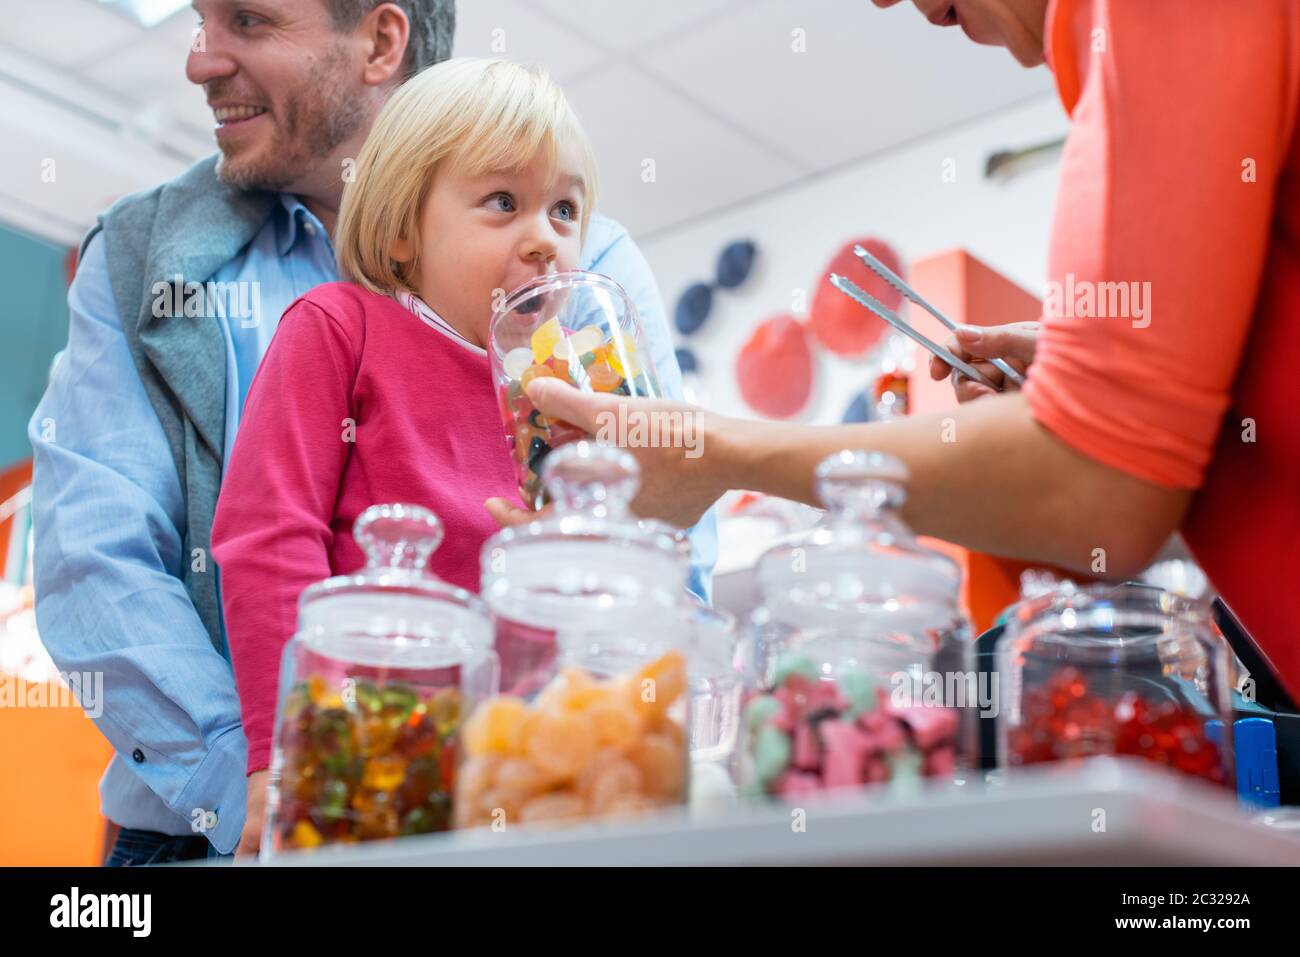
<path id="1" fill-rule="evenodd" d="M 495 311 L 488 338 L 506 441 L 524 501 L 534 508 L 545 503 L 541 463 L 584 433 L 549 421 L 524 386 L 555 377 L 582 391 L 662 395 L 636 306 L 598 273 L 549 273 L 525 282 Z"/>

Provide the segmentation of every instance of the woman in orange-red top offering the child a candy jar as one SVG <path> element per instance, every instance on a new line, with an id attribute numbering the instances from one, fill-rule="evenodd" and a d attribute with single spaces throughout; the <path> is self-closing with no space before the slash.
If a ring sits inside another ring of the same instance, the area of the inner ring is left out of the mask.
<path id="1" fill-rule="evenodd" d="M 637 511 L 690 525 L 731 488 L 816 503 L 822 458 L 879 449 L 911 471 L 911 527 L 980 551 L 1124 577 L 1182 529 L 1300 698 L 1300 0 L 914 1 L 1045 59 L 1072 120 L 1049 273 L 1074 295 L 1049 296 L 1026 387 L 866 425 L 702 413 L 698 458 L 633 450 Z M 620 402 L 530 393 L 592 432 Z"/>

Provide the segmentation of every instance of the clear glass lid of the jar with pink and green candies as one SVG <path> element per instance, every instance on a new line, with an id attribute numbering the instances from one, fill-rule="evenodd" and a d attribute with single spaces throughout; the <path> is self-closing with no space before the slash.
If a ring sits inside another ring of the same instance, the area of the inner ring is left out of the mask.
<path id="1" fill-rule="evenodd" d="M 822 520 L 758 563 L 772 620 L 840 636 L 919 636 L 950 625 L 961 573 L 900 518 L 907 480 L 902 462 L 876 451 L 845 450 L 818 465 Z"/>

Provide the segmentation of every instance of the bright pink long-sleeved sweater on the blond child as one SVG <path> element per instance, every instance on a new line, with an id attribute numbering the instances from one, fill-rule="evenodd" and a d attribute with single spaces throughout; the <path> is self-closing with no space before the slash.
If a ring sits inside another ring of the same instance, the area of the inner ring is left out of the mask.
<path id="1" fill-rule="evenodd" d="M 298 596 L 365 563 L 356 516 L 380 502 L 432 508 L 446 538 L 430 570 L 477 592 L 478 551 L 497 531 L 491 495 L 515 498 L 517 482 L 481 348 L 351 283 L 289 307 L 250 387 L 212 528 L 250 774 L 270 763 Z"/>

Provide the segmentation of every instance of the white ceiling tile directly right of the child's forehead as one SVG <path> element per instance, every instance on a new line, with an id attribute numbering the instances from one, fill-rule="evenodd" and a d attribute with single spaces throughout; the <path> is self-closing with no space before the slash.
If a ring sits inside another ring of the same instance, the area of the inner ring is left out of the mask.
<path id="1" fill-rule="evenodd" d="M 595 150 L 601 211 L 633 233 L 718 209 L 798 174 L 638 70 L 602 70 L 567 92 Z M 646 160 L 654 161 L 654 182 L 642 178 Z"/>

